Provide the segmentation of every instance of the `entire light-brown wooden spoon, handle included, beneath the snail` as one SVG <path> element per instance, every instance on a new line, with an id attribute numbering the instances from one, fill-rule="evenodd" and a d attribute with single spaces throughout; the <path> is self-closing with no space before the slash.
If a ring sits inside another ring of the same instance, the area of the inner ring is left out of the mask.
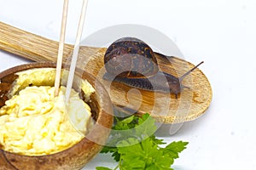
<path id="1" fill-rule="evenodd" d="M 12 54 L 20 55 L 33 61 L 56 61 L 58 42 L 39 37 L 27 31 L 0 22 L 0 48 Z M 65 44 L 64 62 L 70 62 L 72 45 Z M 103 56 L 106 48 L 81 46 L 78 67 L 98 78 L 107 89 L 110 98 L 120 111 L 150 113 L 158 122 L 176 123 L 194 120 L 201 116 L 212 100 L 212 88 L 205 74 L 196 69 L 183 80 L 189 87 L 175 99 L 175 95 L 153 93 L 130 88 L 118 82 L 102 79 L 106 72 Z M 180 77 L 195 65 L 178 59 L 165 58 L 156 54 L 160 70 Z"/>

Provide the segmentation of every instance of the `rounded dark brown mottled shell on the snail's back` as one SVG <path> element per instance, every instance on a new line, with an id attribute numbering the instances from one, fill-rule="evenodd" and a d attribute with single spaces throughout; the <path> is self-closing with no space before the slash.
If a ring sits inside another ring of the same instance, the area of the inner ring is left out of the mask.
<path id="1" fill-rule="evenodd" d="M 150 77 L 159 69 L 153 50 L 145 42 L 134 37 L 123 37 L 113 42 L 104 56 L 108 73 L 118 77 Z"/>

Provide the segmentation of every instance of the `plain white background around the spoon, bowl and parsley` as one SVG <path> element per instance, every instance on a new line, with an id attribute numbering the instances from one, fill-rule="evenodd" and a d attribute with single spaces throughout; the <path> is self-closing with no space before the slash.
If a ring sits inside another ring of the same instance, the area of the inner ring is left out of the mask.
<path id="1" fill-rule="evenodd" d="M 70 1 L 69 43 L 74 42 L 81 2 Z M 0 21 L 58 40 L 62 3 L 0 0 Z M 209 110 L 164 138 L 189 141 L 174 163 L 177 170 L 256 169 L 255 11 L 253 0 L 90 0 L 88 4 L 83 37 L 117 24 L 150 26 L 172 38 L 190 62 L 205 61 L 200 68 L 212 84 Z M 0 51 L 0 71 L 26 62 Z M 97 156 L 84 169 L 114 167 L 110 160 Z"/>

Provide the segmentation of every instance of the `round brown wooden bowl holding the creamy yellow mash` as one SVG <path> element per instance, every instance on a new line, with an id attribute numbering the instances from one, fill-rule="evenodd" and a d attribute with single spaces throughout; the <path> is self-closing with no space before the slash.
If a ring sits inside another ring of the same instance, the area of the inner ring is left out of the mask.
<path id="1" fill-rule="evenodd" d="M 8 99 L 7 93 L 12 82 L 15 81 L 16 72 L 25 71 L 32 68 L 49 68 L 55 67 L 55 63 L 42 62 L 19 65 L 0 73 L 0 107 Z M 55 154 L 46 156 L 23 156 L 9 151 L 0 150 L 0 169 L 8 170 L 38 170 L 38 169 L 81 169 L 96 154 L 102 150 L 102 145 L 108 139 L 113 124 L 113 108 L 111 100 L 103 88 L 102 84 L 89 73 L 79 70 L 79 74 L 86 79 L 93 88 L 96 89 L 94 94 L 90 95 L 90 107 L 93 118 L 96 123 L 91 127 L 89 133 L 86 134 L 78 144 Z"/>

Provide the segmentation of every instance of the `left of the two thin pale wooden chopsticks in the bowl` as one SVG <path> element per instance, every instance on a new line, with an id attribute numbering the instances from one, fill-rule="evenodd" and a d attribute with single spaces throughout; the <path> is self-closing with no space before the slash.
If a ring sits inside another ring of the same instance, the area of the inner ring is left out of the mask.
<path id="1" fill-rule="evenodd" d="M 60 36 L 59 51 L 58 51 L 58 58 L 57 58 L 57 65 L 56 65 L 55 96 L 59 95 L 59 87 L 61 82 L 61 65 L 62 65 L 63 48 L 64 48 L 64 42 L 65 42 L 66 26 L 67 26 L 67 8 L 68 8 L 68 0 L 65 0 L 63 4 L 61 36 Z"/>

